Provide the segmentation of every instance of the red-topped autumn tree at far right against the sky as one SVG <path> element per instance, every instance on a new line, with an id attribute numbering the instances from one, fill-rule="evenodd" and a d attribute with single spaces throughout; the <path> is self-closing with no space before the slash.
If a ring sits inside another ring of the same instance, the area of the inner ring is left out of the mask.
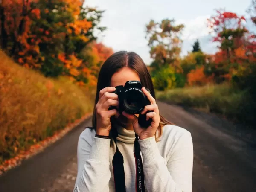
<path id="1" fill-rule="evenodd" d="M 247 46 L 250 34 L 245 23 L 244 16 L 225 10 L 218 10 L 216 15 L 208 19 L 207 26 L 212 29 L 213 41 L 219 42 L 219 51 L 213 55 L 212 63 L 207 67 L 207 73 L 214 74 L 216 83 L 230 81 L 233 74 L 247 65 L 244 62 L 247 58 L 238 56 L 243 54 L 243 50 L 251 52 Z"/>

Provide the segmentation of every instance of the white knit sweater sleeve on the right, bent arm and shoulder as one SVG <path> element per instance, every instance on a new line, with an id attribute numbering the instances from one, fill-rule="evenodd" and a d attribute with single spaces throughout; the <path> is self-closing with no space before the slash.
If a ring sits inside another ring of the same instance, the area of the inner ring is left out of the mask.
<path id="1" fill-rule="evenodd" d="M 139 140 L 148 192 L 192 192 L 193 144 L 189 131 L 169 151 L 167 163 L 154 137 Z"/>

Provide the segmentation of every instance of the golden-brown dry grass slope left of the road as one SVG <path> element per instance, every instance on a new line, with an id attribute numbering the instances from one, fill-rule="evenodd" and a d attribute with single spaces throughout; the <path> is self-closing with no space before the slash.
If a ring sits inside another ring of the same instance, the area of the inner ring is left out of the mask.
<path id="1" fill-rule="evenodd" d="M 0 52 L 0 163 L 93 109 L 94 93 L 48 79 Z"/>

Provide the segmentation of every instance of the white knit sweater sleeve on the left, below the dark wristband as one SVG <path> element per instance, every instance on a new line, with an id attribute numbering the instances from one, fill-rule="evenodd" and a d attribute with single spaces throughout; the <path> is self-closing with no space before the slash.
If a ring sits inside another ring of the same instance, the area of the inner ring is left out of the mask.
<path id="1" fill-rule="evenodd" d="M 78 141 L 78 173 L 74 192 L 108 192 L 111 176 L 109 169 L 110 139 L 98 137 L 92 139 L 89 131 L 86 134 L 81 134 Z"/>

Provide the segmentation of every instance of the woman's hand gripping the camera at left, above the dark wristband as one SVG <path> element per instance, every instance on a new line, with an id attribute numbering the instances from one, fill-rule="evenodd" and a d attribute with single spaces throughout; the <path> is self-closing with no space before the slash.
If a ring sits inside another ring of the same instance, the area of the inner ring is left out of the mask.
<path id="1" fill-rule="evenodd" d="M 109 136 L 111 130 L 111 116 L 120 114 L 116 109 L 108 110 L 110 106 L 118 106 L 118 96 L 110 93 L 116 90 L 115 87 L 105 87 L 99 91 L 99 101 L 96 104 L 96 134 Z"/>

